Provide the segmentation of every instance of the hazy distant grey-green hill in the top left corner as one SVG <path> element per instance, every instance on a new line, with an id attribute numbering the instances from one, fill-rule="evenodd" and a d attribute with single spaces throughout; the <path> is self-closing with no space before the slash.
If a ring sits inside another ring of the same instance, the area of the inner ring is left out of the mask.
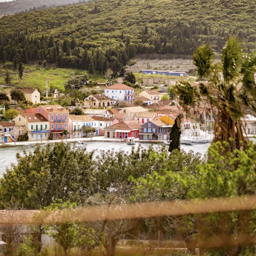
<path id="1" fill-rule="evenodd" d="M 15 0 L 0 3 L 0 17 L 33 9 L 45 9 L 51 6 L 87 2 L 88 0 Z"/>

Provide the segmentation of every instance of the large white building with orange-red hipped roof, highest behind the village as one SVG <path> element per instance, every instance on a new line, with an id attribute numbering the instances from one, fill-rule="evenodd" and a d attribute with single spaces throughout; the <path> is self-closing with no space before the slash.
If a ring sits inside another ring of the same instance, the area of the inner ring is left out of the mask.
<path id="1" fill-rule="evenodd" d="M 132 87 L 125 84 L 113 84 L 105 89 L 105 95 L 116 102 L 124 101 L 126 103 L 133 103 L 135 93 Z"/>

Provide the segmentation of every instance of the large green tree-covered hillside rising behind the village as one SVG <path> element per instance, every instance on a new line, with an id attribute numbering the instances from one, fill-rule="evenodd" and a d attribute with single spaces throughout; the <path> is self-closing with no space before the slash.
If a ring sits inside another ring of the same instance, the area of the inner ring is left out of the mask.
<path id="1" fill-rule="evenodd" d="M 237 34 L 256 47 L 254 0 L 104 0 L 0 19 L 0 61 L 118 71 L 135 54 L 219 51 Z"/>

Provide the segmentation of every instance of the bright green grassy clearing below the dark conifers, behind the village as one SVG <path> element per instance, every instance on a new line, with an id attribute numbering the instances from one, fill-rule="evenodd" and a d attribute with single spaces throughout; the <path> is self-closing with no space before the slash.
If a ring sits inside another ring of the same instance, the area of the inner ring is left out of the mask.
<path id="1" fill-rule="evenodd" d="M 35 88 L 44 91 L 46 87 L 46 79 L 49 79 L 49 87 L 58 89 L 60 92 L 65 90 L 65 84 L 68 79 L 76 75 L 87 75 L 89 79 L 97 82 L 105 81 L 103 75 L 91 75 L 86 70 L 55 68 L 55 67 L 39 67 L 37 65 L 24 65 L 23 77 L 19 79 L 18 70 L 12 69 L 12 63 L 6 63 L 0 66 L 0 84 L 5 84 L 5 72 L 9 70 L 11 74 L 11 85 L 20 88 Z"/>

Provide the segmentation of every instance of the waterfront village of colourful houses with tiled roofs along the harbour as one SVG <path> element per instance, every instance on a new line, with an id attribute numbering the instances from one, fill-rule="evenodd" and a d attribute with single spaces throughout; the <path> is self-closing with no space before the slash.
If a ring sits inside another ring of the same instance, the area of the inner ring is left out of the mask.
<path id="1" fill-rule="evenodd" d="M 198 83 L 192 84 L 197 86 Z M 82 140 L 94 136 L 105 140 L 133 138 L 134 141 L 168 142 L 175 118 L 182 111 L 178 99 L 163 99 L 159 88 L 145 89 L 136 95 L 132 87 L 123 83 L 104 86 L 100 94 L 89 95 L 79 106 L 66 108 L 58 104 L 42 104 L 36 89 L 19 89 L 34 107 L 16 107 L 17 115 L 6 120 L 5 106 L 0 106 L 0 145 L 16 141 Z M 12 90 L 7 96 L 13 102 Z M 58 102 L 57 90 L 54 99 Z M 15 104 L 12 107 L 15 108 Z M 246 134 L 254 137 L 256 117 L 247 115 L 243 122 Z M 182 118 L 181 136 L 210 136 L 213 124 L 211 112 L 206 112 L 204 107 L 195 109 L 189 117 Z"/>

